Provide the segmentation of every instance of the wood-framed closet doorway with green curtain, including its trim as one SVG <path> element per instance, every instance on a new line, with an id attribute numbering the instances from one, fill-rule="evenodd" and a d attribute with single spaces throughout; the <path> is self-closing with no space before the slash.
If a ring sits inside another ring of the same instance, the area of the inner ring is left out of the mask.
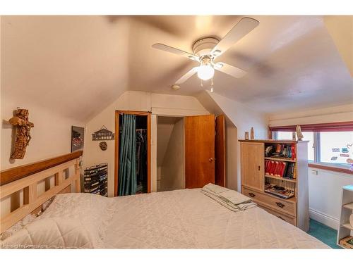
<path id="1" fill-rule="evenodd" d="M 115 111 L 114 196 L 150 192 L 150 112 Z"/>

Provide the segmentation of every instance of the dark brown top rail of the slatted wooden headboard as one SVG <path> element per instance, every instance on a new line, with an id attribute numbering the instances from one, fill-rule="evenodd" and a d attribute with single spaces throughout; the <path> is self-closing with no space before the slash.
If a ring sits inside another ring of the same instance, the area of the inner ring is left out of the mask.
<path id="1" fill-rule="evenodd" d="M 16 180 L 20 180 L 29 175 L 35 174 L 37 172 L 41 172 L 42 170 L 47 170 L 49 168 L 55 167 L 56 165 L 60 165 L 68 161 L 72 161 L 73 159 L 76 159 L 82 156 L 82 154 L 83 154 L 83 151 L 75 151 L 73 153 L 68 153 L 55 158 L 48 158 L 43 161 L 38 161 L 35 163 L 20 165 L 15 168 L 2 170 L 0 172 L 0 186 Z"/>

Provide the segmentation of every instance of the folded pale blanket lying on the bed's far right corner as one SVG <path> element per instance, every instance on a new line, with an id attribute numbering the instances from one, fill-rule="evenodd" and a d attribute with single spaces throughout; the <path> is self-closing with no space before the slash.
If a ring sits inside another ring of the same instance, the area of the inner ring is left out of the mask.
<path id="1" fill-rule="evenodd" d="M 233 191 L 212 183 L 206 184 L 201 189 L 201 192 L 214 199 L 222 206 L 225 206 L 229 210 L 246 210 L 248 208 L 256 206 L 256 203 L 253 203 L 253 201 L 249 199 L 249 197 L 240 194 L 238 191 Z"/>

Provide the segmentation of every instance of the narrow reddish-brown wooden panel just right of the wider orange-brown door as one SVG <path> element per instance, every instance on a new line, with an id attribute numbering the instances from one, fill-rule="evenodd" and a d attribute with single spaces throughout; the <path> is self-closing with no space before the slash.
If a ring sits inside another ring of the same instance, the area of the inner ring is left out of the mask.
<path id="1" fill-rule="evenodd" d="M 216 118 L 215 184 L 225 187 L 225 115 Z"/>

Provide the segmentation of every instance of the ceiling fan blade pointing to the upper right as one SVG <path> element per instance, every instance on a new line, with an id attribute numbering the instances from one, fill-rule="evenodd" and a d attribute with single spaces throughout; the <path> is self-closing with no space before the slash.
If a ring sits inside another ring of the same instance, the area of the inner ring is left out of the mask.
<path id="1" fill-rule="evenodd" d="M 246 34 L 251 32 L 259 24 L 258 20 L 253 18 L 241 18 L 239 22 L 234 25 L 232 30 L 230 30 L 223 39 L 213 48 L 211 54 L 214 56 L 220 56 L 227 49 L 229 49 L 235 42 L 239 41 Z"/>

